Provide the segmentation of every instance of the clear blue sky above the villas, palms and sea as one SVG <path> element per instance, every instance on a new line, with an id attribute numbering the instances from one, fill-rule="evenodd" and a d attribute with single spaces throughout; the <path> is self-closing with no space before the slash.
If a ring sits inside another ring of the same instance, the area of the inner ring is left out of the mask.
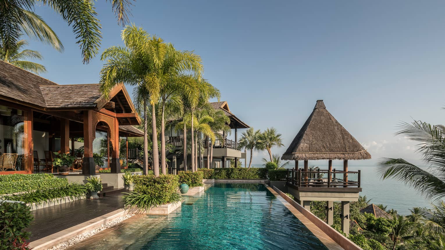
<path id="1" fill-rule="evenodd" d="M 96 8 L 100 52 L 122 45 L 109 2 L 98 0 Z M 273 153 L 286 150 L 316 100 L 324 99 L 372 155 L 354 164 L 372 165 L 381 157 L 419 162 L 416 143 L 394 136 L 402 121 L 443 124 L 444 8 L 444 1 L 433 0 L 138 0 L 130 21 L 200 55 L 204 77 L 239 119 L 282 134 L 285 146 Z M 49 8 L 35 11 L 65 46 L 59 53 L 30 41 L 29 48 L 44 56 L 48 73 L 42 76 L 59 84 L 97 83 L 100 56 L 83 64 L 68 24 Z M 265 156 L 255 152 L 253 163 Z"/>

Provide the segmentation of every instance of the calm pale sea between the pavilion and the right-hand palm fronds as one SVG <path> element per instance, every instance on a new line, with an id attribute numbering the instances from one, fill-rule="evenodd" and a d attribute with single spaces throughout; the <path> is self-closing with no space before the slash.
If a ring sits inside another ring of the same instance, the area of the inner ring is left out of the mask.
<path id="1" fill-rule="evenodd" d="M 380 175 L 376 174 L 376 167 L 356 167 L 350 166 L 350 171 L 361 170 L 361 187 L 363 191 L 360 195 L 366 195 L 372 199 L 374 204 L 384 204 L 387 209 L 395 209 L 399 214 L 410 214 L 409 209 L 414 206 L 431 207 L 431 202 L 426 200 L 416 190 L 405 186 L 404 183 L 393 180 L 382 180 Z"/>

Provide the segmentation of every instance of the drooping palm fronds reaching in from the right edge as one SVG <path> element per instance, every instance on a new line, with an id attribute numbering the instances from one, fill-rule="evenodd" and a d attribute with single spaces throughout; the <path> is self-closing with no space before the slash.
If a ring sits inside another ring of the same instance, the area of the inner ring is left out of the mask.
<path id="1" fill-rule="evenodd" d="M 401 123 L 396 135 L 419 142 L 418 152 L 430 167 L 426 170 L 404 159 L 383 158 L 378 163 L 377 173 L 382 179 L 392 177 L 411 186 L 427 198 L 445 197 L 445 127 L 421 121 Z"/>

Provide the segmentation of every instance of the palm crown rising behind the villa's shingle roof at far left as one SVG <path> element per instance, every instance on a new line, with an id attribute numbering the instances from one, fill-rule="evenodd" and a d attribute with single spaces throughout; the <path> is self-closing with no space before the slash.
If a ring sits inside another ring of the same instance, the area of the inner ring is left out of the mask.
<path id="1" fill-rule="evenodd" d="M 42 64 L 28 61 L 28 59 L 42 60 L 43 57 L 38 51 L 30 49 L 22 50 L 23 47 L 28 45 L 26 40 L 20 40 L 14 44 L 14 46 L 10 47 L 4 47 L 3 44 L 4 43 L 0 43 L 0 60 L 36 74 L 46 72 L 46 68 Z"/>

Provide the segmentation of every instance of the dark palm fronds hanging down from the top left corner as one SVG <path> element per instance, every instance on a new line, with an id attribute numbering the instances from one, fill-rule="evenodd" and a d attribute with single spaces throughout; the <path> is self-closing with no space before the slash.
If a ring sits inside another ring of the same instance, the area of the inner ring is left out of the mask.
<path id="1" fill-rule="evenodd" d="M 53 46 L 59 52 L 64 48 L 56 33 L 45 21 L 34 13 L 36 5 L 47 5 L 61 15 L 76 34 L 80 44 L 83 62 L 89 61 L 99 51 L 101 44 L 101 24 L 93 0 L 0 0 L 0 40 L 4 49 L 10 50 L 25 33 L 31 38 Z M 119 24 L 128 21 L 129 0 L 110 0 Z"/>

